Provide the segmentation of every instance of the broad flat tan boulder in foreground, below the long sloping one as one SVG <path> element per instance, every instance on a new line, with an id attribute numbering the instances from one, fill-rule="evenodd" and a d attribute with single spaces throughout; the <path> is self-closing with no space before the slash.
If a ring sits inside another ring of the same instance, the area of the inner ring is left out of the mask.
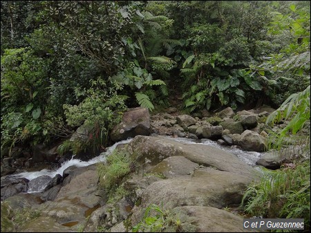
<path id="1" fill-rule="evenodd" d="M 178 176 L 149 185 L 142 194 L 142 206 L 152 203 L 167 209 L 183 205 L 236 206 L 251 182 L 252 179 L 229 171 L 196 169 L 192 176 Z"/>

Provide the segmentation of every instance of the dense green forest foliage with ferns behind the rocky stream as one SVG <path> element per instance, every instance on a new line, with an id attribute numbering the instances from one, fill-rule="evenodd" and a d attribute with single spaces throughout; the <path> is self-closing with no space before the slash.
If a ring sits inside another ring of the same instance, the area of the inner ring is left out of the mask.
<path id="1" fill-rule="evenodd" d="M 279 106 L 309 73 L 309 1 L 1 1 L 1 149 L 109 144 L 176 86 L 188 112 Z"/>

